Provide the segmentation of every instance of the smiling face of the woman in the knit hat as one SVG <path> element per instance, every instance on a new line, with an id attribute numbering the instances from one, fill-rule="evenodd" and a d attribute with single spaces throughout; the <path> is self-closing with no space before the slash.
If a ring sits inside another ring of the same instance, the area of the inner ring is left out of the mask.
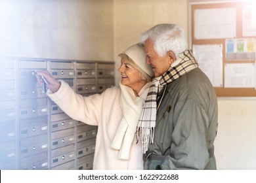
<path id="1" fill-rule="evenodd" d="M 131 87 L 137 93 L 146 84 L 146 80 L 141 79 L 140 72 L 132 67 L 126 59 L 121 59 L 118 71 L 121 74 L 121 84 Z"/>

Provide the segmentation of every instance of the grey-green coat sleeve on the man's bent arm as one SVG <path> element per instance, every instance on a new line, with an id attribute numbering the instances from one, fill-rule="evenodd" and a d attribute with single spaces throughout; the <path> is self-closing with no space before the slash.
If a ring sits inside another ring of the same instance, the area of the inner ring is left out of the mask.
<path id="1" fill-rule="evenodd" d="M 204 169 L 209 161 L 205 109 L 192 99 L 175 105 L 171 150 L 161 169 Z"/>

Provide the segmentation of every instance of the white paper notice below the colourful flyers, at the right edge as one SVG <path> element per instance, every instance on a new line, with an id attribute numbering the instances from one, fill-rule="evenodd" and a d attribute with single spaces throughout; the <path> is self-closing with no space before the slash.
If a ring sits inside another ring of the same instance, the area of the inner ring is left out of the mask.
<path id="1" fill-rule="evenodd" d="M 225 88 L 255 88 L 255 63 L 227 63 L 224 73 Z"/>

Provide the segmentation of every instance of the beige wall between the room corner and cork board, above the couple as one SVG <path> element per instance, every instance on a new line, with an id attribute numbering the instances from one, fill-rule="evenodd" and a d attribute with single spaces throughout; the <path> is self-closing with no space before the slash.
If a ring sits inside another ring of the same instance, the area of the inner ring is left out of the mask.
<path id="1" fill-rule="evenodd" d="M 187 0 L 114 0 L 114 56 L 139 42 L 140 33 L 156 24 L 181 24 L 188 30 Z M 116 84 L 119 82 L 116 73 Z"/>

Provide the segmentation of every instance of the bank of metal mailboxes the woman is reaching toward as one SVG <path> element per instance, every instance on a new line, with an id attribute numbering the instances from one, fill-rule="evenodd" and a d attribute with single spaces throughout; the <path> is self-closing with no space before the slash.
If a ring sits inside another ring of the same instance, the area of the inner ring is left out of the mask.
<path id="1" fill-rule="evenodd" d="M 92 169 L 97 127 L 51 101 L 39 70 L 84 96 L 114 86 L 114 62 L 0 58 L 0 169 Z"/>

